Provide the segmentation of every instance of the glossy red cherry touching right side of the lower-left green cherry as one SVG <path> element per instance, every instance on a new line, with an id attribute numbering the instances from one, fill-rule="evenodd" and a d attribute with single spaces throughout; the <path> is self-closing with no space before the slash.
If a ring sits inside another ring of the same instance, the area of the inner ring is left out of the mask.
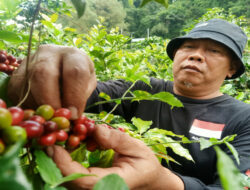
<path id="1" fill-rule="evenodd" d="M 40 137 L 44 131 L 43 125 L 36 121 L 26 120 L 19 123 L 19 125 L 26 130 L 29 139 Z"/>

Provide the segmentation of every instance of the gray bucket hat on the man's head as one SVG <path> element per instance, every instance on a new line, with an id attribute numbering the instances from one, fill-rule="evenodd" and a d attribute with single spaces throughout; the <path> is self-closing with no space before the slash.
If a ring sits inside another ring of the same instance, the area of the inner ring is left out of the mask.
<path id="1" fill-rule="evenodd" d="M 247 36 L 239 26 L 222 19 L 211 19 L 198 23 L 187 35 L 174 38 L 168 43 L 166 51 L 170 59 L 173 60 L 174 51 L 186 39 L 212 39 L 224 44 L 235 53 L 240 63 L 240 67 L 230 79 L 239 77 L 244 73 L 245 67 L 242 61 L 242 54 L 247 43 Z"/>

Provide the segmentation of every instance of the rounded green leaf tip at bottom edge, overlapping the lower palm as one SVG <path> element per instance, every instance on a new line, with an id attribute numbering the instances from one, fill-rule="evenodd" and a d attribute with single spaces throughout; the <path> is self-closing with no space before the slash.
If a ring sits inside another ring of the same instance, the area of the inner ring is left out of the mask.
<path id="1" fill-rule="evenodd" d="M 117 174 L 110 174 L 99 180 L 93 190 L 129 190 L 124 179 Z"/>

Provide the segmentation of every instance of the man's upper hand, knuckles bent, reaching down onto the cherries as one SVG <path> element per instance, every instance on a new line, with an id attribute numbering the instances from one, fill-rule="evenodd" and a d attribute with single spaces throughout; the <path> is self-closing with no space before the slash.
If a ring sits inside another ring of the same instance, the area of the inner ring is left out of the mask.
<path id="1" fill-rule="evenodd" d="M 15 71 L 8 86 L 13 103 L 20 101 L 25 81 L 26 59 Z M 31 56 L 28 68 L 30 93 L 24 106 L 36 108 L 50 104 L 55 109 L 69 108 L 72 119 L 85 109 L 86 101 L 96 87 L 94 65 L 90 58 L 77 48 L 42 45 Z"/>

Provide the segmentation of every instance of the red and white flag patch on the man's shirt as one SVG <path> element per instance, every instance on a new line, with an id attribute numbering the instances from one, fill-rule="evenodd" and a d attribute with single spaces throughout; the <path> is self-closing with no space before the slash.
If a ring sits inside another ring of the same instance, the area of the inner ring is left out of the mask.
<path id="1" fill-rule="evenodd" d="M 195 119 L 189 133 L 199 137 L 220 139 L 225 124 L 212 123 Z"/>

